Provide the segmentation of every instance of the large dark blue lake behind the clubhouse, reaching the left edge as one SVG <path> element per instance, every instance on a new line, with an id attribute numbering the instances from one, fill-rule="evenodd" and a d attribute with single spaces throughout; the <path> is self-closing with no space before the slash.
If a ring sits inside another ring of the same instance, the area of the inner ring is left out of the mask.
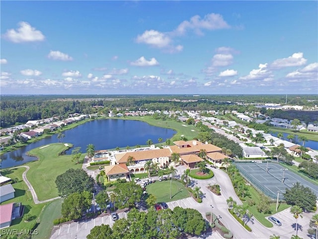
<path id="1" fill-rule="evenodd" d="M 81 147 L 81 152 L 85 153 L 86 147 L 90 143 L 95 145 L 95 150 L 135 147 L 137 144 L 146 145 L 148 139 L 151 139 L 153 143 L 158 143 L 158 139 L 162 138 L 162 143 L 164 143 L 175 133 L 176 131 L 173 129 L 153 126 L 138 120 L 97 119 L 64 131 L 63 142 L 72 143 L 74 147 Z M 15 151 L 4 153 L 1 155 L 1 168 L 34 161 L 36 158 L 26 155 L 26 152 L 45 144 L 57 142 L 59 140 L 55 134 Z M 72 149 L 66 153 L 71 154 L 71 152 Z"/>

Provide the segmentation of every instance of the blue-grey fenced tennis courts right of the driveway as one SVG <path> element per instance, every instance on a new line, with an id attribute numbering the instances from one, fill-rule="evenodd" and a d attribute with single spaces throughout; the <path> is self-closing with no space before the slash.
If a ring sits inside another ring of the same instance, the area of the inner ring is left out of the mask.
<path id="1" fill-rule="evenodd" d="M 275 199 L 277 192 L 283 199 L 286 188 L 293 187 L 294 183 L 309 187 L 318 196 L 318 186 L 303 179 L 301 176 L 289 171 L 276 163 L 236 163 L 240 173 L 265 195 Z"/>

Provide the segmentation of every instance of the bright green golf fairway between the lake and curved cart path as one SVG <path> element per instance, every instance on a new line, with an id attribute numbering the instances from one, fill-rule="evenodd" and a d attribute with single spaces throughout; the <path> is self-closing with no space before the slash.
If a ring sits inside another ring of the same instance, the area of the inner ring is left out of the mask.
<path id="1" fill-rule="evenodd" d="M 26 177 L 32 184 L 40 201 L 59 196 L 55 179 L 70 168 L 81 168 L 81 161 L 77 164 L 72 161 L 72 155 L 58 154 L 67 149 L 64 143 L 49 144 L 48 147 L 38 147 L 29 151 L 31 155 L 37 155 L 39 160 L 28 163 L 30 170 Z M 72 149 L 70 149 L 72 150 Z"/>

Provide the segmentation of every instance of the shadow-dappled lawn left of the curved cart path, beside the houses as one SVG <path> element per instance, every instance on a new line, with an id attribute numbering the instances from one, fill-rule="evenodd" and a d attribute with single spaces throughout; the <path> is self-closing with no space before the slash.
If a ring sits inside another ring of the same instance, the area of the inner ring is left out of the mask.
<path id="1" fill-rule="evenodd" d="M 30 228 L 31 225 L 38 220 L 43 207 L 46 205 L 45 203 L 34 204 L 32 195 L 30 191 L 28 191 L 28 187 L 22 180 L 22 173 L 24 171 L 25 168 L 8 168 L 1 170 L 1 175 L 17 180 L 16 183 L 12 184 L 13 188 L 15 189 L 15 198 L 7 200 L 1 203 L 1 205 L 13 202 L 22 203 L 22 205 L 24 206 L 24 214 L 29 213 L 30 215 L 35 216 L 34 220 L 27 223 L 24 222 L 23 217 L 14 219 L 9 229 L 16 229 L 18 231 Z"/>

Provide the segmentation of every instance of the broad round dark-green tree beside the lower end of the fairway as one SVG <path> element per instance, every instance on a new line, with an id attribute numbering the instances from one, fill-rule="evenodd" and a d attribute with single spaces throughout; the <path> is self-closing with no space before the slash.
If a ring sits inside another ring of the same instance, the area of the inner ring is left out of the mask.
<path id="1" fill-rule="evenodd" d="M 94 179 L 88 176 L 82 169 L 69 169 L 65 173 L 56 177 L 56 186 L 59 195 L 66 197 L 75 192 L 91 192 L 94 185 Z"/>

